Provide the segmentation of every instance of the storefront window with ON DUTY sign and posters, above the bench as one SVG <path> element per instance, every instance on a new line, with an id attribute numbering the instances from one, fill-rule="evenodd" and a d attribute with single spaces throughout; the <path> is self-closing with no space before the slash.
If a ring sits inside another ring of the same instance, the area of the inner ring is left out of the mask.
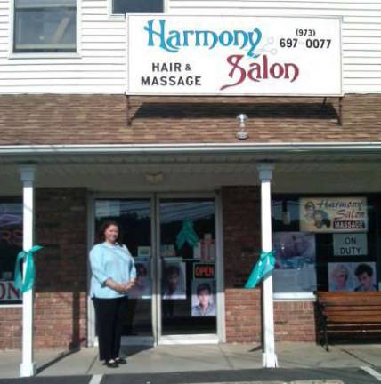
<path id="1" fill-rule="evenodd" d="M 275 295 L 377 291 L 376 208 L 372 196 L 275 197 Z"/>

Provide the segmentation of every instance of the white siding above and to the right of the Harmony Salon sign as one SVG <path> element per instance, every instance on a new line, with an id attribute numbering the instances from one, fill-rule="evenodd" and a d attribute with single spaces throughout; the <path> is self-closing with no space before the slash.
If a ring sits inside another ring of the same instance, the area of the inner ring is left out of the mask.
<path id="1" fill-rule="evenodd" d="M 344 92 L 381 92 L 381 0 L 171 0 L 170 13 L 342 16 Z"/>

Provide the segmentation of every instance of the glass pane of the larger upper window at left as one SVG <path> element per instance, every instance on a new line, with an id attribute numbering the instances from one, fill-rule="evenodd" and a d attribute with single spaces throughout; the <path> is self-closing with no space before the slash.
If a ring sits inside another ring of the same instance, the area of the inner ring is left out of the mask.
<path id="1" fill-rule="evenodd" d="M 77 0 L 14 0 L 13 52 L 76 52 Z"/>

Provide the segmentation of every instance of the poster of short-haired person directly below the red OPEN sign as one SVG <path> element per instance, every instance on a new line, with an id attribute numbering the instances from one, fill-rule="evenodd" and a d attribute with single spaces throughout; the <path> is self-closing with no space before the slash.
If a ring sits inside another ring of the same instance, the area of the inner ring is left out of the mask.
<path id="1" fill-rule="evenodd" d="M 215 280 L 192 281 L 191 316 L 215 316 Z"/>

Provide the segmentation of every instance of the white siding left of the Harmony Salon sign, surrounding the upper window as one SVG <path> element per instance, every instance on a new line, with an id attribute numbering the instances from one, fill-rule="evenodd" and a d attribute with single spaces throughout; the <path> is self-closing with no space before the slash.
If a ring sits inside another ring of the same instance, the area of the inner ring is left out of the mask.
<path id="1" fill-rule="evenodd" d="M 0 0 L 0 92 L 124 93 L 126 23 L 108 0 L 80 0 L 79 55 L 9 58 L 9 0 Z"/>

